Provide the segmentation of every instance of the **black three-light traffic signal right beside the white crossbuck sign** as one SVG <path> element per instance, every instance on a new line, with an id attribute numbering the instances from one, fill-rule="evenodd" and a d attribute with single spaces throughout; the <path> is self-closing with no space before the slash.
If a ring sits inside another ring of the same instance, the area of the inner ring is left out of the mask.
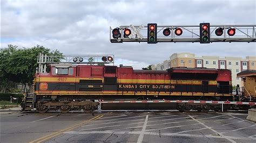
<path id="1" fill-rule="evenodd" d="M 157 43 L 157 24 L 156 23 L 147 24 L 147 43 L 148 44 Z"/>

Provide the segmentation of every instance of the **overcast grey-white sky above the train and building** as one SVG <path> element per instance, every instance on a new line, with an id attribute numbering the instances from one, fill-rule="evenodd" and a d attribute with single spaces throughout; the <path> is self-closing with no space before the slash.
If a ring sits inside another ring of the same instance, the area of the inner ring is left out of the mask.
<path id="1" fill-rule="evenodd" d="M 42 45 L 64 54 L 114 54 L 116 65 L 147 67 L 178 52 L 196 56 L 256 55 L 251 43 L 111 44 L 109 26 L 256 24 L 256 1 L 6 1 L 1 0 L 1 48 Z"/>

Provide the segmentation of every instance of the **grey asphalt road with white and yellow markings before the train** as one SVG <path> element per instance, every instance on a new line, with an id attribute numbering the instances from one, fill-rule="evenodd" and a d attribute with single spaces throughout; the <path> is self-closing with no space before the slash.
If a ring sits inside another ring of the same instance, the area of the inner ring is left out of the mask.
<path id="1" fill-rule="evenodd" d="M 256 142 L 246 112 L 1 113 L 1 142 Z"/>

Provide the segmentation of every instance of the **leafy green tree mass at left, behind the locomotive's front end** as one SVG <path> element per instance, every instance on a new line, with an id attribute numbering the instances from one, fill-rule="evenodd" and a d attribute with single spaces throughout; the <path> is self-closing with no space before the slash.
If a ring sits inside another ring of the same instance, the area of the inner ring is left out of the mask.
<path id="1" fill-rule="evenodd" d="M 63 56 L 57 50 L 50 52 L 49 48 L 39 45 L 21 49 L 18 46 L 8 45 L 8 48 L 0 49 L 1 92 L 6 92 L 10 88 L 11 83 L 14 82 L 32 83 L 39 53 Z"/>

